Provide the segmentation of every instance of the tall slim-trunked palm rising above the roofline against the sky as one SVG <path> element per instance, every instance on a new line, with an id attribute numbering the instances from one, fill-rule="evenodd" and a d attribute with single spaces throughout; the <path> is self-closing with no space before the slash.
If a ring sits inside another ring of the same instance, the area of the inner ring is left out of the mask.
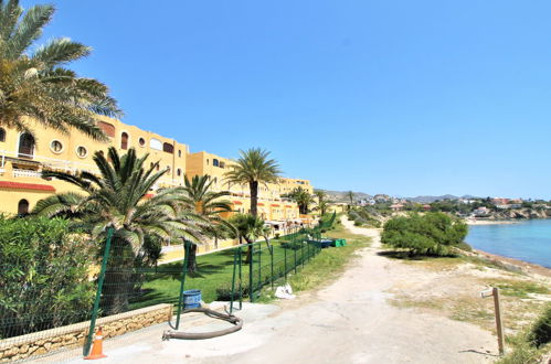
<path id="1" fill-rule="evenodd" d="M 258 184 L 277 182 L 282 172 L 279 165 L 269 159 L 269 152 L 259 148 L 251 148 L 240 151 L 241 157 L 236 164 L 230 165 L 230 171 L 225 173 L 227 183 L 248 184 L 251 190 L 251 215 L 257 216 Z"/>

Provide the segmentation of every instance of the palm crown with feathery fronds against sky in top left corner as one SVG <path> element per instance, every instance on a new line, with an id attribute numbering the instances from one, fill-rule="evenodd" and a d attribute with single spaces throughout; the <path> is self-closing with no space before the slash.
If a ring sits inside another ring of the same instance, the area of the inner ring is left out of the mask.
<path id="1" fill-rule="evenodd" d="M 63 38 L 31 50 L 54 11 L 42 4 L 23 15 L 19 0 L 0 0 L 0 125 L 32 133 L 31 122 L 38 121 L 105 139 L 97 119 L 120 116 L 116 100 L 100 82 L 65 67 L 87 56 L 91 47 Z"/>

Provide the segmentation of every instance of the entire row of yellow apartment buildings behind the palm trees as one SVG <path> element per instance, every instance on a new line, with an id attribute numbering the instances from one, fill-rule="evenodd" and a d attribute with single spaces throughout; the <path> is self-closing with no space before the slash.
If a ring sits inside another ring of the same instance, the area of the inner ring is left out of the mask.
<path id="1" fill-rule="evenodd" d="M 88 138 L 73 130 L 64 135 L 40 125 L 32 127 L 34 137 L 14 129 L 0 127 L 0 212 L 23 214 L 30 212 L 40 200 L 60 192 L 75 191 L 71 184 L 42 178 L 43 169 L 57 169 L 68 172 L 86 170 L 98 173 L 92 159 L 95 151 L 106 152 L 112 146 L 119 152 L 136 148 L 138 156 L 149 153 L 150 163 L 159 161 L 159 169 L 169 169 L 157 188 L 183 185 L 184 173 L 211 175 L 218 191 L 230 191 L 229 200 L 235 212 L 251 210 L 248 185 L 230 185 L 224 173 L 231 159 L 208 152 L 190 153 L 187 144 L 112 118 L 102 118 L 99 126 L 108 136 L 107 142 Z M 301 186 L 312 188 L 307 180 L 282 178 L 277 183 L 261 185 L 258 191 L 258 213 L 276 228 L 301 223 L 295 202 L 282 194 Z M 152 191 L 151 193 L 155 193 Z"/>

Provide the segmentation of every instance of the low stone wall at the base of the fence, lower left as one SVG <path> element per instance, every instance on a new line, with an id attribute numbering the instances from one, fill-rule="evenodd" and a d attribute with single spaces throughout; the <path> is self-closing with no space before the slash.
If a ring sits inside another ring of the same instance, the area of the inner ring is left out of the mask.
<path id="1" fill-rule="evenodd" d="M 172 304 L 163 303 L 100 318 L 96 321 L 96 328 L 102 326 L 104 338 L 113 338 L 157 323 L 168 322 L 171 318 Z M 84 321 L 0 340 L 0 362 L 24 360 L 60 349 L 82 346 L 88 329 L 89 321 Z"/>

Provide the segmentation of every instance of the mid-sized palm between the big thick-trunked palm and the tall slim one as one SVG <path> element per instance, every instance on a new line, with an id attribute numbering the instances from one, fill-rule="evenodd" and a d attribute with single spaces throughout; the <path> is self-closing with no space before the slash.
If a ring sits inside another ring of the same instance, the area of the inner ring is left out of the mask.
<path id="1" fill-rule="evenodd" d="M 214 180 L 210 175 L 195 175 L 191 181 L 186 176 L 186 186 L 183 190 L 187 193 L 188 203 L 190 203 L 195 213 L 203 217 L 208 223 L 203 228 L 203 234 L 214 237 L 215 245 L 224 231 L 234 229 L 233 225 L 221 217 L 222 213 L 232 211 L 232 205 L 229 201 L 220 200 L 230 195 L 230 192 L 213 192 L 212 184 Z M 191 246 L 190 256 L 188 258 L 188 271 L 197 271 L 197 245 Z"/>

